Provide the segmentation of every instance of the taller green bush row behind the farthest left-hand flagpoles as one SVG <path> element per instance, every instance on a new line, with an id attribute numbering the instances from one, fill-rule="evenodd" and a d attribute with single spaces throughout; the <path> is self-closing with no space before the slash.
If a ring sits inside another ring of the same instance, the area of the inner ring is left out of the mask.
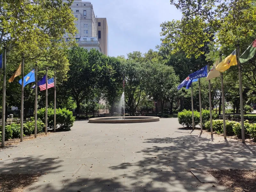
<path id="1" fill-rule="evenodd" d="M 54 109 L 47 109 L 47 129 L 53 129 L 54 127 Z M 45 108 L 41 108 L 37 111 L 37 117 L 40 118 L 43 122 L 45 122 Z M 75 121 L 75 117 L 73 116 L 72 111 L 69 111 L 66 108 L 56 109 L 56 129 L 60 131 L 70 131 L 73 123 Z M 59 125 L 59 126 L 58 126 Z"/>

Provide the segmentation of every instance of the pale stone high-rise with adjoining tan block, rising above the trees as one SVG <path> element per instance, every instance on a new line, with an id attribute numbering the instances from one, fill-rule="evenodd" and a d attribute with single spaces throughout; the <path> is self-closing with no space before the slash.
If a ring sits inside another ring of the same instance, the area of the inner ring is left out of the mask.
<path id="1" fill-rule="evenodd" d="M 74 0 L 70 8 L 73 11 L 73 15 L 77 18 L 75 23 L 78 33 L 76 33 L 76 36 L 65 36 L 64 38 L 67 41 L 69 38 L 76 38 L 80 47 L 87 50 L 95 48 L 108 55 L 107 19 L 95 17 L 90 1 Z"/>

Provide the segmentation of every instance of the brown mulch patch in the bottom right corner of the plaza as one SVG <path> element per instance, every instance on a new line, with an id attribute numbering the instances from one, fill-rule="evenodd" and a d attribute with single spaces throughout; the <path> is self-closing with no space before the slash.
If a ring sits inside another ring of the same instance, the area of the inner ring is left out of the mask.
<path id="1" fill-rule="evenodd" d="M 209 170 L 221 185 L 234 192 L 256 191 L 256 170 Z"/>

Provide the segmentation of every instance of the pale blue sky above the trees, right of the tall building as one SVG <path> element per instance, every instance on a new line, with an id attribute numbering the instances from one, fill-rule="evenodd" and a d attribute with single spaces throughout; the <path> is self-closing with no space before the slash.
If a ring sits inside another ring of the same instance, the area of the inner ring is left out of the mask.
<path id="1" fill-rule="evenodd" d="M 160 24 L 181 18 L 169 0 L 91 0 L 95 16 L 108 22 L 108 54 L 147 52 L 160 41 Z"/>

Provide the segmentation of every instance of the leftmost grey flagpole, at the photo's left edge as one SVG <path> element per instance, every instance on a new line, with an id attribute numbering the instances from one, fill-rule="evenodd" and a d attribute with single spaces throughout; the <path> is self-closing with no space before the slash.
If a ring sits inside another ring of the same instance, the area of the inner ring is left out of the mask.
<path id="1" fill-rule="evenodd" d="M 3 58 L 3 103 L 2 103 L 2 147 L 4 147 L 4 133 L 5 133 L 5 84 L 6 84 L 6 47 L 4 44 L 4 58 Z"/>

